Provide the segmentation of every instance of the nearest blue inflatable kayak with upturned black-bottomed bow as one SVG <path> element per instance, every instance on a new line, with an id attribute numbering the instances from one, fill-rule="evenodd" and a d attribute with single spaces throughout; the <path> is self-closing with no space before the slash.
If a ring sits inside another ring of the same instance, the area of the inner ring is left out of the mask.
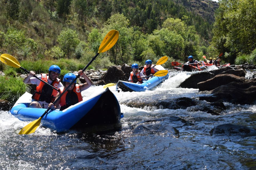
<path id="1" fill-rule="evenodd" d="M 29 95 L 31 99 L 31 94 Z M 27 98 L 27 95 L 22 95 L 9 112 L 19 120 L 31 122 L 42 116 L 46 109 L 29 108 L 30 102 L 23 103 Z M 121 116 L 123 117 L 121 114 L 117 98 L 109 88 L 106 88 L 100 94 L 72 105 L 63 111 L 50 110 L 42 118 L 41 124 L 57 132 L 69 129 L 82 130 L 93 125 L 111 124 L 116 126 L 119 124 Z"/>

